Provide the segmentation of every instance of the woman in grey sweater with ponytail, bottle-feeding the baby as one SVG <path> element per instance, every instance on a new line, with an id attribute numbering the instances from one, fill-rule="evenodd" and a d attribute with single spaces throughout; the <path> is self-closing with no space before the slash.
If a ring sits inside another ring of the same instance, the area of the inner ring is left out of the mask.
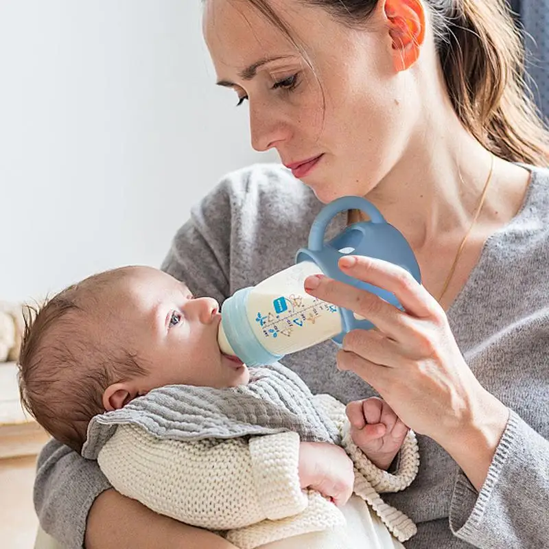
<path id="1" fill-rule="evenodd" d="M 291 264 L 323 202 L 369 198 L 404 233 L 423 285 L 374 261 L 342 264 L 394 291 L 399 312 L 308 279 L 378 330 L 285 364 L 344 401 L 371 385 L 422 435 L 417 480 L 387 498 L 418 525 L 408 547 L 543 546 L 549 137 L 524 97 L 504 2 L 206 0 L 204 33 L 218 83 L 249 101 L 254 148 L 276 148 L 292 173 L 227 176 L 165 270 L 222 301 Z M 67 546 L 85 530 L 88 549 L 231 547 L 108 488 L 95 463 L 51 443 L 36 482 L 42 524 Z"/>

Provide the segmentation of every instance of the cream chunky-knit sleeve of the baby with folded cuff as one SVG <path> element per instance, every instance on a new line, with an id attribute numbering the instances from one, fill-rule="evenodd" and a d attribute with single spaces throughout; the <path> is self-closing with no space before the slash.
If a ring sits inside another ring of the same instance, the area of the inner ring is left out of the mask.
<path id="1" fill-rule="evenodd" d="M 231 530 L 301 513 L 299 435 L 248 440 L 159 440 L 124 425 L 97 461 L 120 493 L 156 513 L 211 530 Z"/>

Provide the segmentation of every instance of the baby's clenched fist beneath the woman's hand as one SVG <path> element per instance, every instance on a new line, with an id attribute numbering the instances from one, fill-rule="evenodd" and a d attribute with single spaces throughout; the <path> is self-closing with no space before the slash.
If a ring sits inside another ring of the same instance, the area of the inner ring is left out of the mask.
<path id="1" fill-rule="evenodd" d="M 408 427 L 385 401 L 377 397 L 347 404 L 353 442 L 379 469 L 387 470 L 395 459 Z"/>

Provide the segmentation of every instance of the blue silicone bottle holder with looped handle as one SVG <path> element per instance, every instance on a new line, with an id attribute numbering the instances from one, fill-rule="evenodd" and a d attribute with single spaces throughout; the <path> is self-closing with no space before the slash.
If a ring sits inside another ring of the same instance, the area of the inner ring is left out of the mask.
<path id="1" fill-rule="evenodd" d="M 362 221 L 347 227 L 342 233 L 329 242 L 325 242 L 326 229 L 331 220 L 341 211 L 358 209 L 369 216 L 369 221 Z M 309 247 L 301 248 L 296 254 L 296 263 L 314 261 L 323 273 L 332 279 L 350 284 L 371 292 L 388 303 L 402 309 L 395 294 L 377 288 L 377 286 L 349 277 L 338 267 L 340 257 L 345 255 L 364 255 L 375 259 L 389 261 L 404 268 L 412 277 L 421 283 L 421 274 L 412 248 L 401 233 L 386 222 L 379 210 L 360 196 L 344 196 L 325 206 L 314 220 L 309 232 Z M 333 340 L 341 344 L 343 336 L 353 329 L 371 329 L 369 320 L 358 320 L 352 311 L 340 307 L 342 331 Z"/>

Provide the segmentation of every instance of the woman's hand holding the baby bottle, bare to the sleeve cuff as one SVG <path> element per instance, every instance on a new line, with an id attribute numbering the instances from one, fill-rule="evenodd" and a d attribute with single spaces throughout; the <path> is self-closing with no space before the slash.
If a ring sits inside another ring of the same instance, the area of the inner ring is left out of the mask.
<path id="1" fill-rule="evenodd" d="M 404 311 L 371 292 L 321 275 L 308 277 L 309 294 L 351 309 L 377 328 L 344 337 L 338 368 L 360 375 L 406 425 L 445 447 L 471 482 L 483 481 L 508 410 L 465 363 L 442 307 L 411 274 L 386 261 L 346 256 L 339 266 L 351 277 L 393 292 Z M 486 466 L 482 479 L 474 480 L 466 470 L 471 444 L 481 452 L 476 466 L 479 459 L 481 469 Z"/>

